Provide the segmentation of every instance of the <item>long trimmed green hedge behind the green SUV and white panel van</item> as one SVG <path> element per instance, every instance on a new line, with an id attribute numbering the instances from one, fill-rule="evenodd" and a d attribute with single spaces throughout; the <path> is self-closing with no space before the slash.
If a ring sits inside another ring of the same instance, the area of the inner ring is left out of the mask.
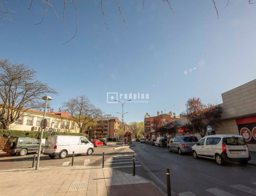
<path id="1" fill-rule="evenodd" d="M 86 137 L 85 133 L 52 132 L 51 135 L 81 135 Z M 41 131 L 18 131 L 18 130 L 0 130 L 0 137 L 29 137 L 40 139 Z M 44 131 L 43 138 L 50 136 L 48 131 Z"/>

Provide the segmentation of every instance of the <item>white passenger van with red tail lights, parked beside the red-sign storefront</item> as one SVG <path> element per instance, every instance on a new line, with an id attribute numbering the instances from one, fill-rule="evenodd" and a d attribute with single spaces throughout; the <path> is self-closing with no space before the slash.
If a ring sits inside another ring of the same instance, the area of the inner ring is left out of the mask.
<path id="1" fill-rule="evenodd" d="M 207 135 L 192 147 L 192 154 L 195 159 L 215 159 L 219 165 L 225 161 L 238 161 L 245 165 L 251 159 L 241 135 Z"/>

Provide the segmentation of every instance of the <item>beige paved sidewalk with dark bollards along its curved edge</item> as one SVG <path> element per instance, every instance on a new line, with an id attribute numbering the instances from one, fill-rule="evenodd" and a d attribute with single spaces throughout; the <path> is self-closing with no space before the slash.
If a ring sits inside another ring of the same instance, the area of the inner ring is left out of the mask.
<path id="1" fill-rule="evenodd" d="M 151 182 L 109 167 L 24 168 L 2 170 L 0 176 L 5 196 L 164 196 Z"/>

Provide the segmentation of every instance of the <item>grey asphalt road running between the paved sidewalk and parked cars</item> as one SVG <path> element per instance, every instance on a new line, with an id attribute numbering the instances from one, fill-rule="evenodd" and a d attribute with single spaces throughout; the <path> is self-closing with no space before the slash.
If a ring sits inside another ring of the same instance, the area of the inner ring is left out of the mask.
<path id="1" fill-rule="evenodd" d="M 251 196 L 256 195 L 256 166 L 227 163 L 220 166 L 214 160 L 194 159 L 191 154 L 169 153 L 168 149 L 136 143 L 134 147 L 118 148 L 104 146 L 95 148 L 91 156 L 75 156 L 74 165 L 102 166 L 132 173 L 132 156 L 136 159 L 136 175 L 151 180 L 166 191 L 166 168 L 171 173 L 172 195 L 180 196 Z M 0 157 L 0 170 L 32 166 L 33 154 Z M 50 159 L 41 154 L 40 167 L 71 165 L 72 156 Z M 145 190 L 146 191 L 146 190 Z M 214 194 L 213 194 L 214 193 Z"/>

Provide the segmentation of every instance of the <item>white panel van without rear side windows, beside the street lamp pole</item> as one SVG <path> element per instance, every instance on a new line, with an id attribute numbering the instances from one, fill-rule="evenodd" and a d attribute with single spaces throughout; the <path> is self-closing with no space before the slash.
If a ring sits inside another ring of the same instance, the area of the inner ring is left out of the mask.
<path id="1" fill-rule="evenodd" d="M 67 155 L 94 152 L 94 146 L 83 136 L 53 135 L 45 143 L 44 155 L 54 158 L 56 155 L 64 159 Z"/>

